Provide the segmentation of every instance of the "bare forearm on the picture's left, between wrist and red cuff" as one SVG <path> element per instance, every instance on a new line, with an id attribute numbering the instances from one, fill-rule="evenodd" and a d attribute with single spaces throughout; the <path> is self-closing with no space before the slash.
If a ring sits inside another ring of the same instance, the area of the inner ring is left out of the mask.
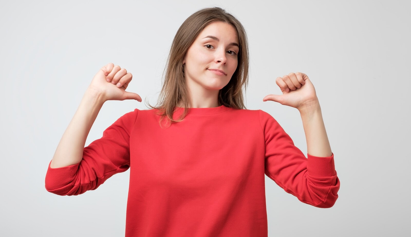
<path id="1" fill-rule="evenodd" d="M 55 150 L 51 168 L 78 164 L 81 161 L 85 140 L 103 103 L 102 97 L 96 91 L 87 89 Z"/>

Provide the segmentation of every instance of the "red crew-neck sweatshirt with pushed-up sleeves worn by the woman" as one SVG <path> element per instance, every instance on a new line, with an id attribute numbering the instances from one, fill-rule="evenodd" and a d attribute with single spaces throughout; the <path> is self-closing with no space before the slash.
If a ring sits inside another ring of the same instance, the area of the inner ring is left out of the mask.
<path id="1" fill-rule="evenodd" d="M 264 174 L 316 207 L 338 197 L 333 155 L 307 159 L 266 112 L 191 108 L 169 128 L 159 118 L 123 115 L 79 164 L 49 166 L 46 189 L 78 195 L 130 168 L 126 237 L 266 237 Z"/>

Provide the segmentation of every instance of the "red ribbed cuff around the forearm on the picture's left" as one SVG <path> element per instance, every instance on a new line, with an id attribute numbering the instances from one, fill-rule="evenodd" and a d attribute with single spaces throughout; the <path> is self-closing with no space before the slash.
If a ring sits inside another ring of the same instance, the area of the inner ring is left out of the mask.
<path id="1" fill-rule="evenodd" d="M 73 164 L 69 166 L 51 168 L 48 163 L 48 169 L 46 173 L 46 189 L 52 191 L 64 187 L 68 183 L 72 182 L 74 174 L 79 169 L 79 164 Z"/>

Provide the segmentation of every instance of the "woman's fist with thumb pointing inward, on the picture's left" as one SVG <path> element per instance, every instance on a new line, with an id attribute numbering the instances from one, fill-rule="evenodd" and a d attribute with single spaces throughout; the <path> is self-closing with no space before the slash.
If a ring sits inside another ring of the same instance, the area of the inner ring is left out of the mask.
<path id="1" fill-rule="evenodd" d="M 132 77 L 133 75 L 127 73 L 125 68 L 109 63 L 100 68 L 93 77 L 89 90 L 101 96 L 103 101 L 138 100 L 141 102 L 141 97 L 138 94 L 125 91 Z"/>

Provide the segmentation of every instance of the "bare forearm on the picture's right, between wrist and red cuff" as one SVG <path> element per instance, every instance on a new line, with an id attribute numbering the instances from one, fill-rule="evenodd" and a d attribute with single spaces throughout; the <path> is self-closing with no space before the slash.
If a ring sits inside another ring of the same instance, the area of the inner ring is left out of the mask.
<path id="1" fill-rule="evenodd" d="M 307 139 L 307 153 L 318 157 L 332 155 L 326 128 L 318 101 L 300 109 L 305 138 Z"/>

